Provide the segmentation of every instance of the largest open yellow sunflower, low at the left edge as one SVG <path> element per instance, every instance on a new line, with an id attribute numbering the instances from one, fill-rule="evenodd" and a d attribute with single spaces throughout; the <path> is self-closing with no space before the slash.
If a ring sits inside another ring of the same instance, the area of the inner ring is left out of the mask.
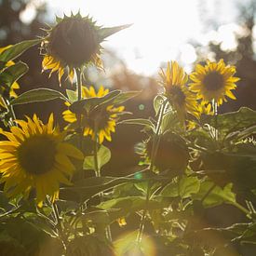
<path id="1" fill-rule="evenodd" d="M 70 157 L 82 159 L 82 153 L 64 142 L 64 133 L 53 127 L 53 115 L 44 125 L 34 115 L 27 121 L 16 120 L 19 127 L 1 130 L 7 141 L 0 141 L 0 182 L 7 196 L 27 197 L 34 188 L 39 207 L 47 195 L 58 198 L 60 183 L 71 185 L 74 165 Z"/>

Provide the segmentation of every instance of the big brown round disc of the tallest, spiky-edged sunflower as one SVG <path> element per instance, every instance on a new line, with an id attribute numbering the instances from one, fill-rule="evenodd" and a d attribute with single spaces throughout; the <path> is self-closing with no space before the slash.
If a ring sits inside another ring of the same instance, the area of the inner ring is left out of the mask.
<path id="1" fill-rule="evenodd" d="M 51 32 L 48 49 L 61 61 L 74 67 L 91 61 L 99 43 L 92 25 L 83 19 L 62 20 Z"/>

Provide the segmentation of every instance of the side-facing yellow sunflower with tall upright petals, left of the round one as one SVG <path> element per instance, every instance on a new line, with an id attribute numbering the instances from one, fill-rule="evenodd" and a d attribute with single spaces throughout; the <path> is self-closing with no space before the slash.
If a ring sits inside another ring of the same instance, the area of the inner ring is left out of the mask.
<path id="1" fill-rule="evenodd" d="M 197 102 L 194 93 L 186 87 L 188 75 L 179 66 L 177 61 L 168 61 L 166 73 L 161 69 L 159 75 L 162 80 L 160 84 L 165 88 L 165 96 L 177 111 L 182 121 L 187 113 L 199 117 Z"/>

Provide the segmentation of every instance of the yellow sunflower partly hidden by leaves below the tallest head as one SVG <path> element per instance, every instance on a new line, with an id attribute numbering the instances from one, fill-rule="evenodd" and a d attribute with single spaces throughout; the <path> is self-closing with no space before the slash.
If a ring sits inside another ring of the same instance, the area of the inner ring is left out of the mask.
<path id="1" fill-rule="evenodd" d="M 101 86 L 98 92 L 93 87 L 82 87 L 83 98 L 103 97 L 108 94 L 109 89 Z M 69 106 L 69 103 L 66 103 Z M 100 109 L 93 109 L 92 111 L 84 112 L 81 115 L 81 123 L 84 130 L 84 136 L 91 136 L 92 140 L 96 139 L 98 134 L 99 142 L 102 143 L 104 139 L 111 141 L 111 132 L 115 132 L 115 125 L 118 115 L 121 115 L 124 111 L 124 106 L 115 107 L 114 105 L 103 106 Z M 70 110 L 66 110 L 62 113 L 63 119 L 74 124 L 74 127 L 78 127 L 77 117 Z"/>

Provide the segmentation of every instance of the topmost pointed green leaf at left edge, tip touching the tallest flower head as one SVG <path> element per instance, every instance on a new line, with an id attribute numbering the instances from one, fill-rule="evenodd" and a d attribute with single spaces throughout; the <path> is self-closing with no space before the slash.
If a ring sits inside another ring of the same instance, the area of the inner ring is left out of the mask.
<path id="1" fill-rule="evenodd" d="M 34 47 L 39 44 L 42 39 L 26 40 L 16 45 L 8 47 L 5 51 L 0 54 L 0 61 L 13 61 L 18 58 L 25 50 L 30 47 Z"/>

